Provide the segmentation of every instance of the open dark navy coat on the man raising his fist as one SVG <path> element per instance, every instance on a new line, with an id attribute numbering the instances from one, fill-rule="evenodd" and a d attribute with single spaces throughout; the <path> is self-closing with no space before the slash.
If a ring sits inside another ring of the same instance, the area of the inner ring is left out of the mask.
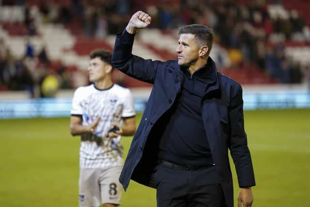
<path id="1" fill-rule="evenodd" d="M 158 143 L 155 125 L 180 93 L 183 75 L 177 61 L 144 60 L 132 55 L 131 43 L 122 43 L 117 35 L 112 64 L 130 77 L 154 84 L 140 125 L 132 140 L 120 182 L 126 190 L 129 180 L 155 188 L 152 173 L 157 161 Z M 233 207 L 233 179 L 228 158 L 230 149 L 240 187 L 255 185 L 247 135 L 244 130 L 242 88 L 234 80 L 218 73 L 209 57 L 215 79 L 205 87 L 202 119 L 228 207 Z"/>

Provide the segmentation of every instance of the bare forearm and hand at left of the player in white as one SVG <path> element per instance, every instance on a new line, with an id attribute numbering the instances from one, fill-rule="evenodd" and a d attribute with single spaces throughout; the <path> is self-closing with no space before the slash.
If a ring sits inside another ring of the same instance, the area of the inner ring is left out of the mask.
<path id="1" fill-rule="evenodd" d="M 98 123 L 99 123 L 100 117 L 96 118 L 96 120 L 87 126 L 82 125 L 82 117 L 81 116 L 75 116 L 72 115 L 70 119 L 70 133 L 72 136 L 81 135 L 87 132 L 93 132 Z"/>

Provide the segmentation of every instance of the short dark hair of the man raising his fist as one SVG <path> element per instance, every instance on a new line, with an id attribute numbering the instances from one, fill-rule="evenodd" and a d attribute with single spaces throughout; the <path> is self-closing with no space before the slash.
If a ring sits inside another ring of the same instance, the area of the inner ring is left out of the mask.
<path id="1" fill-rule="evenodd" d="M 179 29 L 179 35 L 186 33 L 194 34 L 197 44 L 200 47 L 206 45 L 208 47 L 207 54 L 210 54 L 214 39 L 214 33 L 210 28 L 202 24 L 191 24 L 183 26 Z"/>

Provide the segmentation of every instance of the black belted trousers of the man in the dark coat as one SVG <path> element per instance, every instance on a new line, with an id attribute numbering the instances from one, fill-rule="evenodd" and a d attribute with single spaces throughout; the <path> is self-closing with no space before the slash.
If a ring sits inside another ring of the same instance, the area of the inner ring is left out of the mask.
<path id="1" fill-rule="evenodd" d="M 214 165 L 195 169 L 160 162 L 153 179 L 157 207 L 226 207 Z"/>

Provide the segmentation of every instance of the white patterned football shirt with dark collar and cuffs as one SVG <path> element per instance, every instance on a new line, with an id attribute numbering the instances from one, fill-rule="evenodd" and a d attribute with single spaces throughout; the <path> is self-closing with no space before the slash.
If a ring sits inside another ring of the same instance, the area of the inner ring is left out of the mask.
<path id="1" fill-rule="evenodd" d="M 112 124 L 123 125 L 122 118 L 135 116 L 133 97 L 129 89 L 114 84 L 99 90 L 94 84 L 79 87 L 73 97 L 71 115 L 82 116 L 84 126 L 100 121 L 93 133 L 81 135 L 79 165 L 94 169 L 123 165 L 121 136 L 108 138 Z"/>

